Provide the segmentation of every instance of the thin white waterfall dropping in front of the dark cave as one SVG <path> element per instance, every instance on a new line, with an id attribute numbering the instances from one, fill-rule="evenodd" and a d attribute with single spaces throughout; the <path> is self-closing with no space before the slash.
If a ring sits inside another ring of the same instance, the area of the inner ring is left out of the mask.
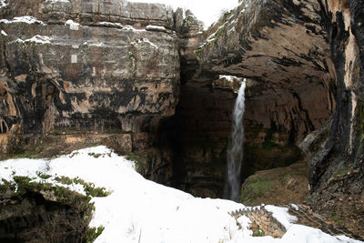
<path id="1" fill-rule="evenodd" d="M 243 80 L 233 111 L 231 137 L 227 147 L 227 180 L 225 197 L 238 202 L 240 196 L 240 173 L 243 161 L 243 116 L 245 110 L 246 79 Z"/>

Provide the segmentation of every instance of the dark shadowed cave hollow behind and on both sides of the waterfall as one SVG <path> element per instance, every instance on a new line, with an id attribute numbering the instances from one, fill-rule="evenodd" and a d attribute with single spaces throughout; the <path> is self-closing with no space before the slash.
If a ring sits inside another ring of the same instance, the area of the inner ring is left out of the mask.
<path id="1" fill-rule="evenodd" d="M 174 151 L 172 185 L 197 197 L 223 197 L 239 83 L 219 77 L 182 82 L 176 115 L 167 126 Z M 311 80 L 285 87 L 248 79 L 241 183 L 258 170 L 306 162 L 298 144 L 331 115 L 332 90 Z"/>

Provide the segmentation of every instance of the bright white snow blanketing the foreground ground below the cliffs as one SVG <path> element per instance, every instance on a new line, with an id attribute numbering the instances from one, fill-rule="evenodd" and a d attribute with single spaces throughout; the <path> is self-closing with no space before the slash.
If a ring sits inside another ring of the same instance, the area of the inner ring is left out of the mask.
<path id="1" fill-rule="evenodd" d="M 134 162 L 118 157 L 106 147 L 90 147 L 54 159 L 12 159 L 0 161 L 0 181 L 15 176 L 79 177 L 96 187 L 106 187 L 112 193 L 94 197 L 96 210 L 90 227 L 104 226 L 96 242 L 360 242 L 346 237 L 334 237 L 316 228 L 292 223 L 286 210 L 268 207 L 275 212 L 287 233 L 283 238 L 252 237 L 249 219 L 238 220 L 228 212 L 243 205 L 210 198 L 197 198 L 180 190 L 149 181 L 135 171 Z M 46 179 L 52 181 L 52 177 Z M 1 182 L 0 182 L 1 183 Z M 56 183 L 56 182 L 55 182 Z M 67 186 L 83 193 L 79 185 Z M 238 228 L 238 223 L 242 228 Z"/>

